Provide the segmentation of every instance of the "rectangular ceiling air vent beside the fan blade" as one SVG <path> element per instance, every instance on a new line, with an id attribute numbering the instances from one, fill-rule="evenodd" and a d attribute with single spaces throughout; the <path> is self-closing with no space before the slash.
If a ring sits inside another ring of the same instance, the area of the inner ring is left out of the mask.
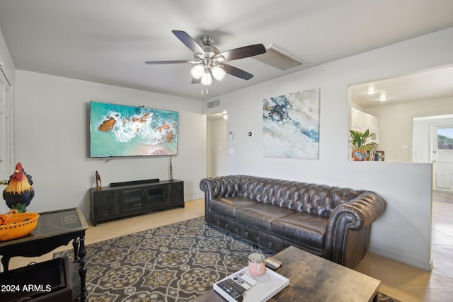
<path id="1" fill-rule="evenodd" d="M 302 61 L 302 59 L 299 59 L 294 54 L 290 54 L 275 44 L 266 47 L 264 54 L 258 54 L 252 58 L 280 70 L 306 65 L 306 62 Z"/>

